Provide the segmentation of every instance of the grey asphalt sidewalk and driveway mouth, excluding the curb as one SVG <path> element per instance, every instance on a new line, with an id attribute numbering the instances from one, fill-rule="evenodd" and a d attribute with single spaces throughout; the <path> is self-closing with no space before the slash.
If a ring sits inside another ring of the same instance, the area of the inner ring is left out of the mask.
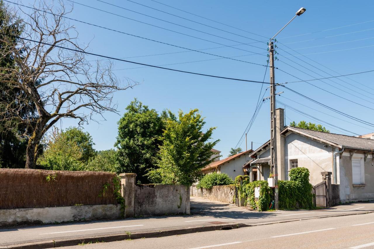
<path id="1" fill-rule="evenodd" d="M 326 215 L 360 214 L 368 211 L 374 211 L 374 203 L 350 203 L 311 211 L 256 212 L 244 207 L 229 206 L 220 202 L 191 197 L 191 215 L 1 228 L 0 246 L 77 238 L 80 236 L 123 234 L 127 231 L 134 233 L 138 231 L 178 229 L 217 224 L 217 222 L 258 224 L 290 219 L 323 217 Z M 354 217 L 356 216 L 358 215 L 354 215 Z"/>

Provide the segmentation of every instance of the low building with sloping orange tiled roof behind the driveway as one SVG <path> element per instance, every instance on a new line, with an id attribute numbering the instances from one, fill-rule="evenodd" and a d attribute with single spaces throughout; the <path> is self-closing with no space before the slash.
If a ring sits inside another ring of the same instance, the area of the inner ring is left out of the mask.
<path id="1" fill-rule="evenodd" d="M 252 151 L 253 150 L 247 150 L 245 152 L 229 156 L 225 159 L 212 162 L 211 164 L 203 168 L 202 172 L 204 174 L 209 174 L 212 172 L 226 173 L 234 180 L 238 175 L 245 174 L 245 171 L 243 170 L 243 164 L 245 164 L 249 160 L 249 154 L 251 154 Z"/>

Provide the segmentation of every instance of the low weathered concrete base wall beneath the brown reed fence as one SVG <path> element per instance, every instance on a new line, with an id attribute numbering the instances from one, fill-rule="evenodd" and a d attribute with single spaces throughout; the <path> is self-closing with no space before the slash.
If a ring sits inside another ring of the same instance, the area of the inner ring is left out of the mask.
<path id="1" fill-rule="evenodd" d="M 120 218 L 120 205 L 0 209 L 0 227 Z"/>

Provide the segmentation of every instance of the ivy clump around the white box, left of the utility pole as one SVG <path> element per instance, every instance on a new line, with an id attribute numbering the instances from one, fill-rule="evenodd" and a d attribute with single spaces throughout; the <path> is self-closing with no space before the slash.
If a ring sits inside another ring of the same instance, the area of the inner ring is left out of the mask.
<path id="1" fill-rule="evenodd" d="M 260 187 L 260 197 L 255 199 L 255 187 Z M 243 193 L 246 197 L 244 204 L 251 206 L 258 211 L 266 211 L 269 209 L 270 201 L 273 197 L 273 190 L 269 187 L 267 181 L 252 181 L 251 183 L 243 184 Z"/>

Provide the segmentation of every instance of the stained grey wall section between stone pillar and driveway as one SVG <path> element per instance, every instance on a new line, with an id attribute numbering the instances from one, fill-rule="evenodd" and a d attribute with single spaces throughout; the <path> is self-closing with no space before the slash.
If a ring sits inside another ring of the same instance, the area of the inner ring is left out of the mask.
<path id="1" fill-rule="evenodd" d="M 190 190 L 183 185 L 135 186 L 135 217 L 190 214 Z"/>

